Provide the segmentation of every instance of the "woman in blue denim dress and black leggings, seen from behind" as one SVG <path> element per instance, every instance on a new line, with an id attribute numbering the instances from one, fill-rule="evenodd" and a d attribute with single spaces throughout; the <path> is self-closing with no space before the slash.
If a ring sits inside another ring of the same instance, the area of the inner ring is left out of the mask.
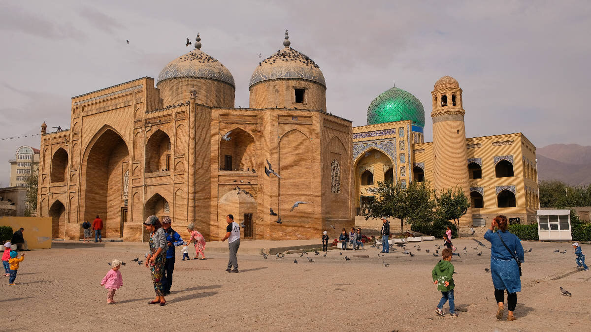
<path id="1" fill-rule="evenodd" d="M 498 230 L 495 232 L 495 226 Z M 503 318 L 503 302 L 505 301 L 505 289 L 507 291 L 508 321 L 514 321 L 513 312 L 517 305 L 517 292 L 521 292 L 521 276 L 519 275 L 519 263 L 524 262 L 523 247 L 519 238 L 507 231 L 509 220 L 503 215 L 496 216 L 491 227 L 486 230 L 484 238 L 491 242 L 491 275 L 492 284 L 495 286 L 495 300 L 499 305 L 496 319 Z M 506 247 L 505 247 L 506 246 Z"/>

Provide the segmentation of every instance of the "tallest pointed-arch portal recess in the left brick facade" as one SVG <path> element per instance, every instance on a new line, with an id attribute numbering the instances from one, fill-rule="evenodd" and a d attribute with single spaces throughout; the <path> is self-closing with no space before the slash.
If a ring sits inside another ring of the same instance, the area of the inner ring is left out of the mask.
<path id="1" fill-rule="evenodd" d="M 124 176 L 129 170 L 129 150 L 121 135 L 101 129 L 86 148 L 82 167 L 81 216 L 92 223 L 103 220 L 103 237 L 122 237 L 126 216 Z"/>

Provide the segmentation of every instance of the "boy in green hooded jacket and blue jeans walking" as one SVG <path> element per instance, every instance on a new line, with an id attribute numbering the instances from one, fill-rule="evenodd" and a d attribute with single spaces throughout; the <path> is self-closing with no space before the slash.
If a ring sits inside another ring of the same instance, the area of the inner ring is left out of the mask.
<path id="1" fill-rule="evenodd" d="M 435 312 L 440 316 L 445 316 L 443 314 L 443 305 L 447 300 L 449 300 L 449 314 L 451 317 L 459 316 L 454 312 L 454 304 L 453 304 L 453 265 L 452 261 L 452 249 L 446 248 L 443 249 L 441 252 L 441 261 L 435 265 L 433 271 L 431 271 L 431 276 L 433 276 L 433 282 L 437 285 L 437 290 L 441 291 L 441 300 L 435 309 Z"/>

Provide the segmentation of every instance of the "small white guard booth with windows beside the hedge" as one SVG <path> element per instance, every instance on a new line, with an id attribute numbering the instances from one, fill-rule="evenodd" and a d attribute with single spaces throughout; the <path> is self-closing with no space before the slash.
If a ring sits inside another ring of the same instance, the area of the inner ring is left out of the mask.
<path id="1" fill-rule="evenodd" d="M 540 240 L 570 241 L 570 210 L 538 210 Z"/>

